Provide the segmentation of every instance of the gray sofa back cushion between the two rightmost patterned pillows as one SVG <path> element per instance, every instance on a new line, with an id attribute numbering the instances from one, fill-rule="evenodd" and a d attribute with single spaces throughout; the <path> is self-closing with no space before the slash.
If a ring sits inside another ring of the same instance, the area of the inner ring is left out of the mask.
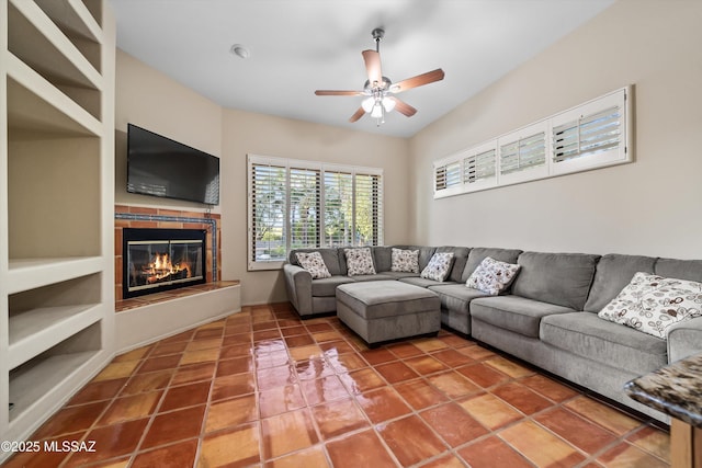
<path id="1" fill-rule="evenodd" d="M 599 255 L 587 253 L 524 252 L 512 294 L 582 310 L 595 277 Z"/>

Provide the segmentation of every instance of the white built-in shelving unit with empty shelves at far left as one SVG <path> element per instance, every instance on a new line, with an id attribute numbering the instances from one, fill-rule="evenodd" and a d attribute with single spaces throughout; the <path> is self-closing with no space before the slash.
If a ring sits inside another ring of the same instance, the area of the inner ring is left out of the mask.
<path id="1" fill-rule="evenodd" d="M 4 441 L 30 436 L 114 351 L 107 10 L 106 0 L 0 0 Z"/>

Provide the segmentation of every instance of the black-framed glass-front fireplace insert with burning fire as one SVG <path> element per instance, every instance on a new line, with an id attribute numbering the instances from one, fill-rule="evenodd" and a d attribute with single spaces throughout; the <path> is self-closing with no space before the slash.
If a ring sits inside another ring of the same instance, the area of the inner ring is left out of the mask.
<path id="1" fill-rule="evenodd" d="M 123 298 L 207 281 L 205 230 L 124 228 L 122 237 Z"/>

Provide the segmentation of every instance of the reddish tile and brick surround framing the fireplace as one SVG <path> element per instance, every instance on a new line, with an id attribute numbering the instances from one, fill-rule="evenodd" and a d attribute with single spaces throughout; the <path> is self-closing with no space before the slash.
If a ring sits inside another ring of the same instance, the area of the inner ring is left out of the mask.
<path id="1" fill-rule="evenodd" d="M 207 231 L 206 282 L 222 281 L 220 216 L 197 212 L 116 205 L 114 207 L 115 300 L 122 296 L 122 230 L 124 228 L 205 229 Z M 213 274 L 215 272 L 215 274 Z"/>

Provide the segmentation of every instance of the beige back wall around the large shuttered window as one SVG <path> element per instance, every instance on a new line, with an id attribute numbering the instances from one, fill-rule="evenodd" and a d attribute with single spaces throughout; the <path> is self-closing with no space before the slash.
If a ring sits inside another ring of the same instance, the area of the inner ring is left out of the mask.
<path id="1" fill-rule="evenodd" d="M 365 165 L 384 170 L 385 243 L 405 243 L 409 214 L 408 142 L 362 132 L 225 110 L 222 189 L 223 274 L 241 279 L 241 303 L 286 300 L 280 272 L 247 270 L 246 155 Z"/>

